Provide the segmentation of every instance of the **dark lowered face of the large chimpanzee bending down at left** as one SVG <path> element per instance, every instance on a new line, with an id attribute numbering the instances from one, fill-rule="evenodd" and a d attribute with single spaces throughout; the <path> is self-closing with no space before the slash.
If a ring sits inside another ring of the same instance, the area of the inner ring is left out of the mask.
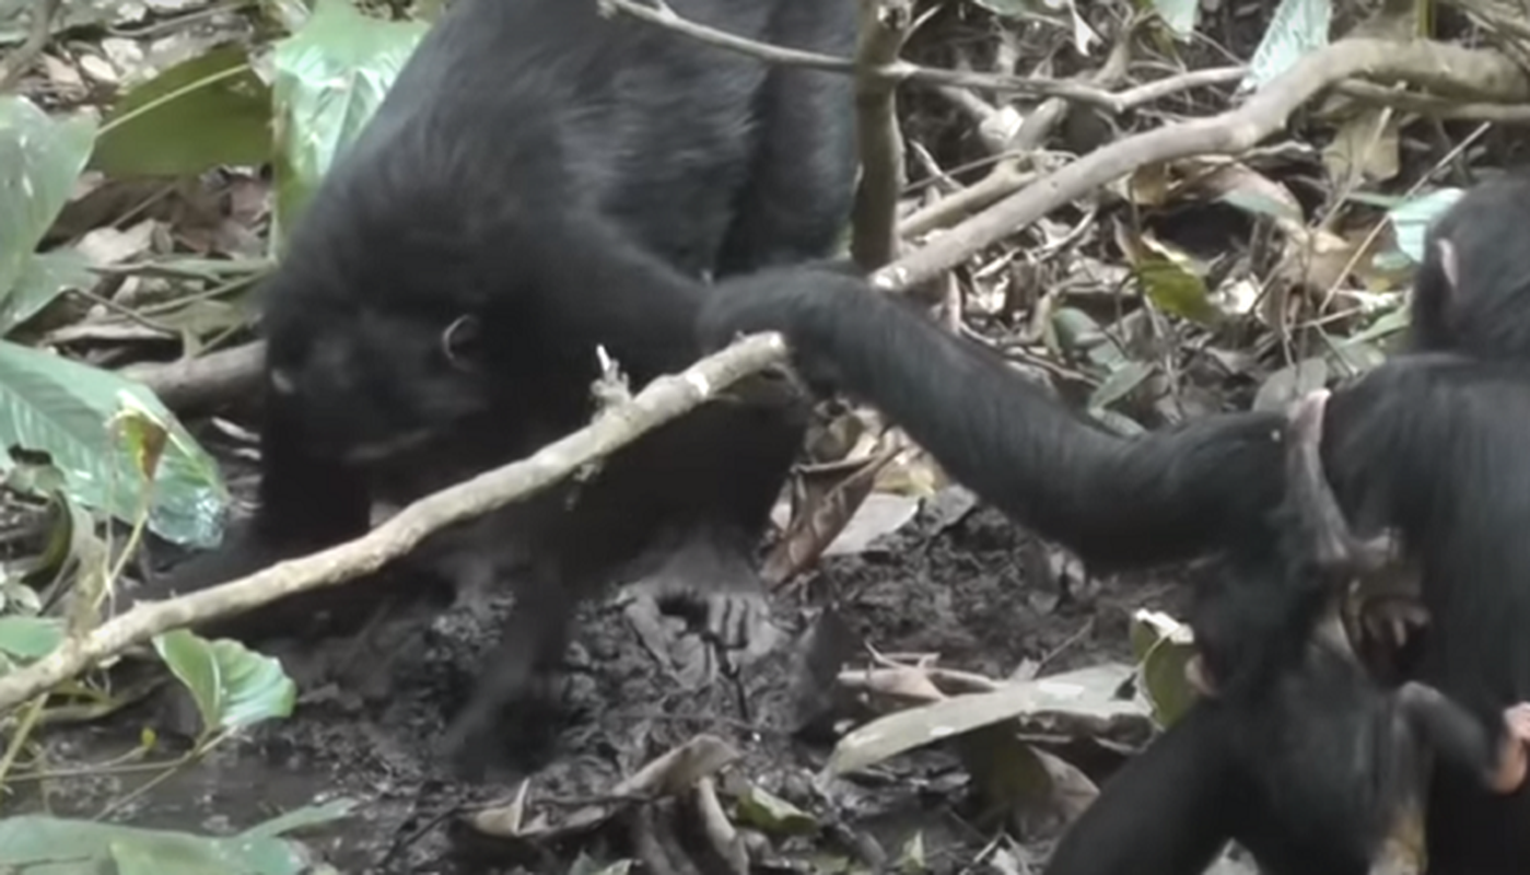
<path id="1" fill-rule="evenodd" d="M 271 327 L 271 402 L 291 411 L 309 451 L 387 460 L 491 404 L 477 317 L 361 307 Z"/>

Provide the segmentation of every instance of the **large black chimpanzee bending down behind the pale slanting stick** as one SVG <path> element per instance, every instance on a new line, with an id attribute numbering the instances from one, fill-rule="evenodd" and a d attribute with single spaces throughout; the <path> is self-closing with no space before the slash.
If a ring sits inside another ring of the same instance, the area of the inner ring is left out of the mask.
<path id="1" fill-rule="evenodd" d="M 672 6 L 799 49 L 846 54 L 855 38 L 848 0 Z M 375 499 L 412 500 L 578 428 L 601 350 L 633 385 L 688 366 L 704 298 L 832 251 L 854 188 L 851 95 L 845 76 L 604 17 L 595 0 L 453 3 L 263 286 L 259 511 L 161 589 L 356 537 Z M 436 538 L 438 558 L 491 577 L 513 535 L 534 563 L 448 733 L 459 765 L 476 765 L 506 704 L 545 691 L 574 604 L 600 584 L 699 603 L 731 644 L 763 621 L 753 551 L 805 427 L 800 399 L 773 387 L 655 430 L 572 494 Z"/>

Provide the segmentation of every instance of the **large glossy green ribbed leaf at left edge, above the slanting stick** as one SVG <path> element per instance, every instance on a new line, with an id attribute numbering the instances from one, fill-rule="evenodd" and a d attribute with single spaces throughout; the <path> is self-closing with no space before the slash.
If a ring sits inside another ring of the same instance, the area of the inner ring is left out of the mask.
<path id="1" fill-rule="evenodd" d="M 213 546 L 228 491 L 217 464 L 155 395 L 109 370 L 0 341 L 0 445 L 47 453 L 69 494 L 133 522 L 144 479 L 133 454 L 107 427 L 124 399 L 151 411 L 170 445 L 151 483 L 150 528 L 170 540 Z"/>

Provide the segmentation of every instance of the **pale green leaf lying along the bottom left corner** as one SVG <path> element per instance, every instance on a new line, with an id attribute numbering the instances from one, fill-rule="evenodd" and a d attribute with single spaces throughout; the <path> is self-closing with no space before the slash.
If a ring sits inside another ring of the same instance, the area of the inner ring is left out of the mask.
<path id="1" fill-rule="evenodd" d="M 43 815 L 0 820 L 0 866 L 8 870 L 298 875 L 311 864 L 298 844 L 280 838 L 213 838 Z"/>

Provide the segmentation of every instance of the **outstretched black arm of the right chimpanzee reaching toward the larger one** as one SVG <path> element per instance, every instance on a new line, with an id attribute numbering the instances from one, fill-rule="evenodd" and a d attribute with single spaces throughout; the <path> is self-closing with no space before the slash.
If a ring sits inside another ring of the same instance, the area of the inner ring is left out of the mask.
<path id="1" fill-rule="evenodd" d="M 875 404 L 956 480 L 1100 566 L 1229 545 L 1281 500 L 1279 413 L 1118 438 L 848 272 L 760 272 L 719 292 L 705 343 L 785 333 L 809 379 Z"/>

